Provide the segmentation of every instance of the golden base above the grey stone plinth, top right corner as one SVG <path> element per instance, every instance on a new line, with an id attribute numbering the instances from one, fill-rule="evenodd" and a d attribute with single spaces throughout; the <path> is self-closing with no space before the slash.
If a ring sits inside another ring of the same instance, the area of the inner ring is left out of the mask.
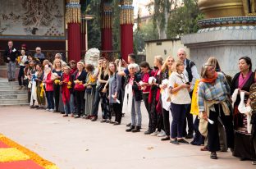
<path id="1" fill-rule="evenodd" d="M 256 0 L 199 0 L 199 9 L 206 18 L 256 16 Z"/>

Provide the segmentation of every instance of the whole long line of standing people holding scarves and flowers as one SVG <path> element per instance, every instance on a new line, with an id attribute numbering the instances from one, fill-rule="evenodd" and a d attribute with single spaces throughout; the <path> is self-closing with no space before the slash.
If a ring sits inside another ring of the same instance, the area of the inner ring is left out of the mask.
<path id="1" fill-rule="evenodd" d="M 230 148 L 235 157 L 256 164 L 256 75 L 249 57 L 240 57 L 239 72 L 231 79 L 214 57 L 209 57 L 199 75 L 183 48 L 177 51 L 177 61 L 156 56 L 153 66 L 138 65 L 130 54 L 128 63 L 100 57 L 95 67 L 83 60 L 66 63 L 60 53 L 52 64 L 43 53 L 32 57 L 25 48 L 21 53 L 13 48 L 12 41 L 8 46 L 4 56 L 8 78 L 15 80 L 18 62 L 20 89 L 28 90 L 30 108 L 97 121 L 101 103 L 100 122 L 118 126 L 123 114 L 129 114 L 126 132 L 135 133 L 142 127 L 144 102 L 149 114 L 144 135 L 176 145 L 202 146 L 201 151 L 209 151 L 212 159 L 217 159 L 217 151 Z"/>

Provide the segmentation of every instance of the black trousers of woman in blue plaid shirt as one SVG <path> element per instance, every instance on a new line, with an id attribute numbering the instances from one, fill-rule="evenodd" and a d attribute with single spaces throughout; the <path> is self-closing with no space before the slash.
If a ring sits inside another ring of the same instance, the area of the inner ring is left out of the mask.
<path id="1" fill-rule="evenodd" d="M 226 143 L 228 148 L 234 147 L 234 131 L 232 124 L 232 116 L 225 116 L 220 104 L 214 105 L 215 111 L 210 111 L 208 118 L 214 121 L 213 125 L 208 124 L 208 149 L 210 152 L 220 150 L 220 139 L 218 135 L 218 117 L 221 118 L 226 130 Z"/>

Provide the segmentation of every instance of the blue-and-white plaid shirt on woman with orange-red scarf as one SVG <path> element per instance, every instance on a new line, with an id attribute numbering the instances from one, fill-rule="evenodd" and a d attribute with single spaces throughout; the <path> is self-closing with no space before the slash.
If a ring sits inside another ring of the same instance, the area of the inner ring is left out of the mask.
<path id="1" fill-rule="evenodd" d="M 204 101 L 224 101 L 230 93 L 231 89 L 226 82 L 225 76 L 221 72 L 217 73 L 217 79 L 214 85 L 200 82 L 198 89 L 199 112 L 205 111 Z"/>

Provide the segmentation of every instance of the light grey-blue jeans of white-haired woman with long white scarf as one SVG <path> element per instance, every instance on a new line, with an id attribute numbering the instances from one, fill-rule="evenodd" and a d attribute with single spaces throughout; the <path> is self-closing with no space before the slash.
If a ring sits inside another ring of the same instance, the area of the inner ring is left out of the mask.
<path id="1" fill-rule="evenodd" d="M 135 101 L 135 97 L 132 98 L 131 107 L 131 126 L 141 126 L 141 111 L 140 111 L 141 101 Z"/>

